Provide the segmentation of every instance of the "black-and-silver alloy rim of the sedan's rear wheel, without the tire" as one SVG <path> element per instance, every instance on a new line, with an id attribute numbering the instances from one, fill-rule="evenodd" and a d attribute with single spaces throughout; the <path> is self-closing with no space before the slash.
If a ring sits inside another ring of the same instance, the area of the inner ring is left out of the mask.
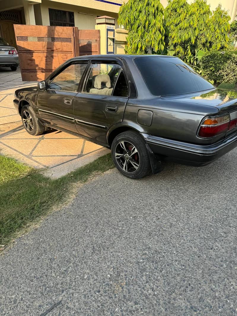
<path id="1" fill-rule="evenodd" d="M 122 141 L 115 148 L 115 158 L 125 172 L 137 171 L 140 166 L 140 155 L 137 148 L 130 142 Z"/>

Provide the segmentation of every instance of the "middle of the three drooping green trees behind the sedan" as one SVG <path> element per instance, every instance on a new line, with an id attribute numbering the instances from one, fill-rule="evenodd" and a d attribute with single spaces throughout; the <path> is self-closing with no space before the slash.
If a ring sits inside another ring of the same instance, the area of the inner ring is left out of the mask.
<path id="1" fill-rule="evenodd" d="M 196 8 L 186 0 L 168 0 L 165 9 L 167 43 L 174 55 L 189 62 L 197 39 Z"/>

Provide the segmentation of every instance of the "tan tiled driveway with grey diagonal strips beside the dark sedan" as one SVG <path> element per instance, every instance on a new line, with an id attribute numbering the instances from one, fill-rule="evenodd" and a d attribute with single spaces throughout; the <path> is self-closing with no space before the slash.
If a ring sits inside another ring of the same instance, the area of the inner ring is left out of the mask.
<path id="1" fill-rule="evenodd" d="M 109 152 L 108 149 L 61 131 L 49 131 L 40 136 L 28 134 L 12 101 L 17 87 L 34 82 L 22 82 L 21 77 L 15 78 L 16 72 L 12 71 L 13 75 L 9 73 L 6 71 L 4 76 L 4 71 L 0 72 L 0 80 L 5 77 L 8 80 L 4 84 L 0 82 L 1 155 L 12 156 L 35 168 L 47 168 L 44 173 L 57 178 Z M 6 89 L 10 84 L 14 88 Z"/>

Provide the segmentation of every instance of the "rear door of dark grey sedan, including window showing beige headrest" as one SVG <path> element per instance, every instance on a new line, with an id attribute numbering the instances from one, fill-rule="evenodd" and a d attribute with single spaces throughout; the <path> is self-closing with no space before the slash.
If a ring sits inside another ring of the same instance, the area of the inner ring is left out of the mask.
<path id="1" fill-rule="evenodd" d="M 127 101 L 128 84 L 122 65 L 92 61 L 82 91 L 74 101 L 77 131 L 106 143 L 107 130 L 123 120 Z"/>

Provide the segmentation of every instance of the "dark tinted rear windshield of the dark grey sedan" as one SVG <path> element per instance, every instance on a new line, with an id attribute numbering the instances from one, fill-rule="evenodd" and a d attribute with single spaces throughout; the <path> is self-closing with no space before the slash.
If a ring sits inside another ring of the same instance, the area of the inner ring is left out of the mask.
<path id="1" fill-rule="evenodd" d="M 187 94 L 214 88 L 177 57 L 143 56 L 134 61 L 153 95 Z"/>

